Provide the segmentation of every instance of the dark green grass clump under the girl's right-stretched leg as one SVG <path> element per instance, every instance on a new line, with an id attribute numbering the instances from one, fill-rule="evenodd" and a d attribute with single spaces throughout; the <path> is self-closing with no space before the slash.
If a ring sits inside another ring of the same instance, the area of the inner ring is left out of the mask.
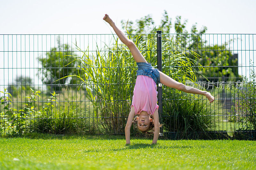
<path id="1" fill-rule="evenodd" d="M 173 91 L 163 104 L 164 131 L 174 132 L 175 139 L 207 136 L 207 132 L 215 128 L 214 106 L 206 97 Z"/>

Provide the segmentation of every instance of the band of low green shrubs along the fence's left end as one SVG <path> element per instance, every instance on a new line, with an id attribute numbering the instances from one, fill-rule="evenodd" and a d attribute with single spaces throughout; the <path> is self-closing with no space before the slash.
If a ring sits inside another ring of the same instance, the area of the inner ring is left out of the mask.
<path id="1" fill-rule="evenodd" d="M 5 112 L 2 111 L 0 115 L 0 135 L 20 135 L 25 132 L 99 133 L 98 125 L 88 116 L 88 111 L 82 110 L 76 102 L 65 101 L 60 105 L 56 101 L 58 94 L 53 92 L 43 106 L 37 106 L 35 96 L 41 98 L 40 91 L 31 91 L 32 95 L 25 97 L 27 101 L 19 111 L 10 107 L 12 100 L 8 96 L 11 94 L 7 93 L 6 89 L 2 92 L 4 96 L 1 96 L 1 104 L 4 105 Z"/>

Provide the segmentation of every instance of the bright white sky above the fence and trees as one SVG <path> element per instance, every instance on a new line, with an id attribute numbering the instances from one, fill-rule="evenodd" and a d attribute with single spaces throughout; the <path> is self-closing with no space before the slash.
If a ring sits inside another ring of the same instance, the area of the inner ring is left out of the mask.
<path id="1" fill-rule="evenodd" d="M 152 14 L 152 18 L 158 25 L 164 10 L 172 18 L 172 23 L 174 23 L 177 15 L 180 15 L 182 20 L 188 19 L 188 31 L 190 31 L 192 24 L 197 22 L 198 29 L 202 26 L 207 26 L 208 30 L 206 33 L 256 33 L 255 6 L 256 1 L 253 0 L 0 0 L 0 34 L 111 34 L 113 30 L 102 19 L 105 13 L 108 13 L 116 25 L 121 27 L 120 21 L 122 19 L 135 21 L 148 14 Z M 6 43 L 6 37 L 5 35 L 5 40 L 3 41 L 3 35 L 0 35 L 0 51 L 3 51 L 3 49 L 6 50 L 8 46 L 12 45 Z M 254 38 L 251 37 L 250 42 L 248 38 L 250 37 L 247 36 L 245 42 L 245 38 L 243 37 L 241 44 L 244 43 L 244 45 L 241 48 L 248 49 L 248 44 L 252 44 L 252 40 L 254 39 L 255 50 L 256 35 Z M 54 36 L 53 41 L 55 41 Z M 3 44 L 5 48 L 3 48 Z M 21 45 L 18 44 L 19 46 L 21 48 Z M 26 48 L 28 48 L 28 45 Z M 46 47 L 45 49 L 49 50 L 50 47 Z M 252 45 L 250 49 L 252 49 Z M 4 53 L 0 52 L 0 60 L 3 61 L 3 58 L 5 58 L 4 63 L 0 63 L 0 85 L 6 85 L 6 82 L 12 81 L 17 72 L 17 70 L 13 70 L 12 72 L 12 69 L 9 69 L 8 74 L 5 72 L 5 76 L 3 76 L 2 72 L 4 69 L 1 68 L 6 68 L 7 65 L 9 68 L 15 68 L 15 65 L 18 65 L 17 63 L 25 61 L 25 65 L 27 65 L 30 64 L 28 61 L 31 60 L 28 54 L 25 56 L 25 59 L 22 58 L 23 55 L 22 57 L 20 55 L 19 61 L 14 61 L 15 53 L 10 53 L 9 55 L 5 53 L 4 57 L 3 55 Z M 14 55 L 13 60 L 11 59 L 12 55 Z M 246 65 L 245 63 L 248 63 L 249 58 L 253 58 L 252 56 L 256 57 L 256 53 L 254 55 L 253 51 L 250 53 L 241 53 L 238 51 L 239 61 L 244 62 L 241 62 L 243 66 Z M 29 72 L 30 75 L 32 74 L 28 70 L 26 75 Z M 239 72 L 241 73 L 241 70 Z M 24 73 L 19 72 L 19 74 Z M 244 75 L 245 73 L 243 72 L 242 74 Z M 248 74 L 248 71 L 246 74 Z M 5 83 L 3 82 L 4 80 Z M 1 91 L 3 90 L 2 88 L 3 86 L 0 87 Z"/>

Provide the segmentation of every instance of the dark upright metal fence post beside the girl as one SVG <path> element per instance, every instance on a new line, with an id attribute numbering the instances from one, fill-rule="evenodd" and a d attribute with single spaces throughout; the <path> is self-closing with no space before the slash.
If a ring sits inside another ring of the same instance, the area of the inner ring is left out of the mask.
<path id="1" fill-rule="evenodd" d="M 162 71 L 162 31 L 156 31 L 156 45 L 157 45 L 157 69 Z M 162 113 L 163 113 L 163 105 L 162 105 L 162 84 L 158 83 L 158 114 L 159 114 L 159 122 L 163 124 Z M 160 133 L 163 133 L 163 128 L 160 128 Z"/>

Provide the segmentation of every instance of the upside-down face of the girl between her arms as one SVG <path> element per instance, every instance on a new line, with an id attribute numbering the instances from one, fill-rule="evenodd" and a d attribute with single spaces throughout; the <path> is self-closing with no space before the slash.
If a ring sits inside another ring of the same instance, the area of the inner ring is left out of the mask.
<path id="1" fill-rule="evenodd" d="M 137 116 L 137 120 L 137 126 L 140 131 L 148 130 L 150 122 L 153 121 L 153 119 L 149 117 L 146 111 L 140 112 L 140 116 Z"/>

